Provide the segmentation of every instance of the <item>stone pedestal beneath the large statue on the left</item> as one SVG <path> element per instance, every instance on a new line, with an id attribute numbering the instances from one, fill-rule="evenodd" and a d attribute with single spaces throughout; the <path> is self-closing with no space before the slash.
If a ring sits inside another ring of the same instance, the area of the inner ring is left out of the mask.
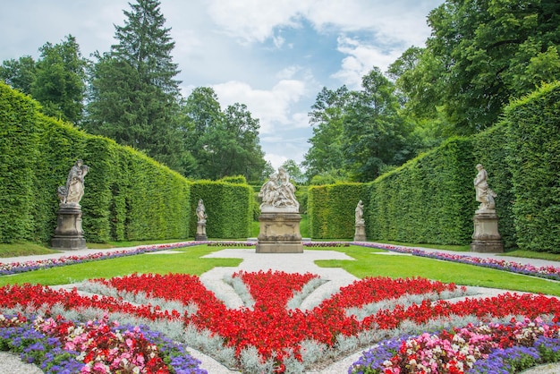
<path id="1" fill-rule="evenodd" d="M 86 240 L 81 228 L 81 207 L 77 204 L 60 204 L 55 236 L 51 241 L 55 250 L 83 250 Z"/>

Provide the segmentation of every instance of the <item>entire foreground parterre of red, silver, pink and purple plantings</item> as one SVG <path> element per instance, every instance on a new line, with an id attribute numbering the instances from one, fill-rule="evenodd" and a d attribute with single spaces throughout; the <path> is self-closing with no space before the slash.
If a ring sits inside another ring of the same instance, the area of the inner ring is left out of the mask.
<path id="1" fill-rule="evenodd" d="M 477 298 L 423 278 L 367 277 L 301 310 L 293 300 L 321 285 L 317 275 L 241 271 L 230 282 L 244 287 L 245 306 L 227 308 L 185 274 L 70 291 L 6 285 L 0 349 L 52 373 L 206 372 L 189 347 L 248 373 L 305 372 L 360 351 L 349 373 L 512 373 L 560 361 L 555 297 Z"/>

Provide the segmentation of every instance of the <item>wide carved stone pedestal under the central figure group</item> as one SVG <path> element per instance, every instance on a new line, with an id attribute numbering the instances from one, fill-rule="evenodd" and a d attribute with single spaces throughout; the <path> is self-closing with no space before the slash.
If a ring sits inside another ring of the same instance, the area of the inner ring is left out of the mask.
<path id="1" fill-rule="evenodd" d="M 262 213 L 257 253 L 303 253 L 300 221 L 299 213 Z"/>

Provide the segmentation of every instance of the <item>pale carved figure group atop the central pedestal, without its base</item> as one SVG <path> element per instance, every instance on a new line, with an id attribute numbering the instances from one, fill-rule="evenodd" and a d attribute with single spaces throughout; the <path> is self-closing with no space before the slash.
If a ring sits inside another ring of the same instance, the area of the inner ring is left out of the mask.
<path id="1" fill-rule="evenodd" d="M 300 203 L 295 199 L 295 187 L 284 167 L 278 168 L 278 173 L 270 174 L 270 179 L 260 188 L 259 198 L 262 199 L 261 210 L 269 207 L 293 208 L 297 211 L 300 208 Z"/>

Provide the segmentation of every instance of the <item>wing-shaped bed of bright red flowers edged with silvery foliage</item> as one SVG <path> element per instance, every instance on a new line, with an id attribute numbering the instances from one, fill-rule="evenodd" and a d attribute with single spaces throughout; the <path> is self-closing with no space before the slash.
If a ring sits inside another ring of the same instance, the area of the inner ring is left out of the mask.
<path id="1" fill-rule="evenodd" d="M 429 323 L 437 325 L 440 321 L 453 322 L 456 327 L 467 326 L 469 329 L 475 328 L 475 325 L 469 327 L 464 321 L 472 319 L 487 324 L 511 315 L 527 319 L 552 316 L 553 322 L 560 319 L 560 301 L 543 295 L 504 293 L 486 299 L 430 301 L 422 297 L 454 293 L 460 291 L 460 287 L 423 278 L 364 278 L 341 288 L 339 293 L 312 310 L 288 309 L 286 304 L 293 294 L 300 292 L 304 285 L 318 276 L 261 271 L 240 272 L 233 277 L 242 279 L 247 285 L 254 299 L 251 308 L 228 309 L 202 285 L 197 276 L 182 274 L 133 274 L 97 279 L 94 283 L 112 294 L 104 296 L 82 295 L 75 289 L 71 292 L 55 291 L 40 285 L 4 286 L 0 288 L 0 305 L 47 312 L 62 308 L 78 310 L 81 315 L 88 314 L 85 310 L 105 310 L 111 316 L 120 313 L 118 315 L 138 319 L 141 323 L 152 322 L 154 326 L 180 321 L 187 330 L 195 330 L 199 336 L 208 338 L 202 343 L 201 340 L 186 341 L 187 344 L 216 356 L 216 345 L 208 342 L 218 339 L 223 349 L 231 351 L 233 366 L 246 372 L 262 371 L 263 368 L 276 372 L 302 371 L 321 354 L 332 357 L 337 349 L 343 352 L 341 347 L 348 342 L 355 343 L 350 349 L 356 351 L 359 346 L 376 343 L 383 337 L 402 336 L 405 332 L 414 332 L 409 331 L 411 327 L 418 330 Z M 129 300 L 140 294 L 148 300 L 144 305 Z M 372 303 L 401 301 L 407 295 L 419 297 L 420 302 L 382 307 L 361 319 L 349 312 L 365 309 Z M 170 310 L 160 306 L 158 303 L 161 301 L 169 302 L 168 305 L 175 302 L 185 308 Z M 174 339 L 181 336 L 188 334 L 176 335 Z M 417 343 L 424 344 L 421 340 Z M 480 344 L 483 343 L 486 344 L 486 340 L 480 340 Z M 485 349 L 482 348 L 483 351 Z"/>

